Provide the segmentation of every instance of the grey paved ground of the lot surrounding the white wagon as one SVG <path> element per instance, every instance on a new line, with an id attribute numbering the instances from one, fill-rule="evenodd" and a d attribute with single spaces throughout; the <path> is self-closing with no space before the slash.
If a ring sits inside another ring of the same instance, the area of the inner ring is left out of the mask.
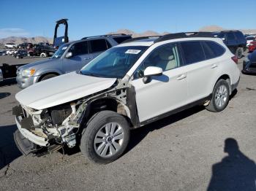
<path id="1" fill-rule="evenodd" d="M 12 139 L 18 91 L 1 83 L 0 190 L 256 190 L 255 76 L 241 74 L 223 112 L 198 106 L 133 130 L 127 152 L 108 165 L 79 151 L 22 156 Z"/>

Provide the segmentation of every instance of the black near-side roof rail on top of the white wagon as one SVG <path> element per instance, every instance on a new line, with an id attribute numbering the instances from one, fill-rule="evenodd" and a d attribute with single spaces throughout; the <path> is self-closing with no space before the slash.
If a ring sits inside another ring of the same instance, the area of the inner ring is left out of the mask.
<path id="1" fill-rule="evenodd" d="M 171 39 L 181 39 L 181 38 L 191 38 L 191 37 L 214 37 L 211 32 L 186 32 L 186 33 L 175 33 L 175 34 L 165 34 L 159 39 L 154 40 L 156 42 L 162 42 Z"/>

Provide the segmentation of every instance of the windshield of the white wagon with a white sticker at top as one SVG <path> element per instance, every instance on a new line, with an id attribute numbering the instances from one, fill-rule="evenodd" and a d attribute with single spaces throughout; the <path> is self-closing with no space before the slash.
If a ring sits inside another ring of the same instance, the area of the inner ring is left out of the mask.
<path id="1" fill-rule="evenodd" d="M 80 73 L 94 77 L 123 78 L 147 49 L 143 46 L 113 47 L 84 66 Z"/>

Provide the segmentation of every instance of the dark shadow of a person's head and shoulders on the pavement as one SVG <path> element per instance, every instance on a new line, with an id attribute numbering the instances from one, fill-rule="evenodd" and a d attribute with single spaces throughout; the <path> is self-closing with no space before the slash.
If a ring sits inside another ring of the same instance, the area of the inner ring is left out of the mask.
<path id="1" fill-rule="evenodd" d="M 227 157 L 212 166 L 211 182 L 207 190 L 255 191 L 255 162 L 239 150 L 238 143 L 233 138 L 225 140 L 224 152 L 227 152 Z"/>

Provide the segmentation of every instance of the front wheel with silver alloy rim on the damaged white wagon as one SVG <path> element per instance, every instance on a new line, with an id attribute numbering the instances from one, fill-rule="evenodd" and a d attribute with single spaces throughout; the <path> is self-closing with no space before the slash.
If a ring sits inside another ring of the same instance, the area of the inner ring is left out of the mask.
<path id="1" fill-rule="evenodd" d="M 110 163 L 118 159 L 129 142 L 129 124 L 116 112 L 102 111 L 89 121 L 80 141 L 83 155 L 94 163 Z"/>

